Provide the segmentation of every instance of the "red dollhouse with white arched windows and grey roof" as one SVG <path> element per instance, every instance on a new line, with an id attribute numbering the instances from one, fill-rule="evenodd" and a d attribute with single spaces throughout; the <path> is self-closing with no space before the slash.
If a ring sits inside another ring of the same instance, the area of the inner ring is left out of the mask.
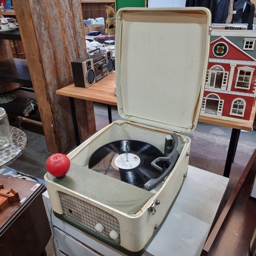
<path id="1" fill-rule="evenodd" d="M 213 30 L 201 115 L 248 123 L 256 96 L 256 31 Z"/>

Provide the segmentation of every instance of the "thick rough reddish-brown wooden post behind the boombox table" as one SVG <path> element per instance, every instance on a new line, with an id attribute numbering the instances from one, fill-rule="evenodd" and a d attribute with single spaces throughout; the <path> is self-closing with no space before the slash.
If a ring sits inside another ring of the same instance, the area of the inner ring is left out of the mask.
<path id="1" fill-rule="evenodd" d="M 55 91 L 73 82 L 71 61 L 86 57 L 79 0 L 14 0 L 15 13 L 50 152 L 75 145 L 69 99 Z M 80 138 L 95 131 L 93 103 L 76 100 Z"/>

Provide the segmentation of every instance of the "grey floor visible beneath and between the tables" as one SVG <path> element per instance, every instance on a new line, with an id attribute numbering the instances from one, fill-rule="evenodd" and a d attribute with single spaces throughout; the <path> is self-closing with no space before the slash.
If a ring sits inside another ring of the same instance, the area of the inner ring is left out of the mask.
<path id="1" fill-rule="evenodd" d="M 96 129 L 99 131 L 108 125 L 108 111 L 106 105 L 99 103 L 95 103 L 94 110 Z M 112 107 L 112 114 L 113 121 L 120 119 L 115 107 Z M 17 125 L 18 123 L 13 121 L 11 124 Z M 46 173 L 45 163 L 51 153 L 47 150 L 41 125 L 40 123 L 26 121 L 21 124 L 25 128 L 23 131 L 28 137 L 28 145 L 22 156 L 11 163 L 9 167 L 19 172 L 43 179 Z M 34 131 L 37 131 L 37 133 Z M 197 129 L 193 133 L 186 135 L 191 138 L 189 165 L 223 175 L 231 129 L 217 125 L 198 123 Z M 236 157 L 231 167 L 230 181 L 225 197 L 226 200 L 241 176 L 255 147 L 256 132 L 241 132 Z M 54 255 L 51 241 L 48 244 L 47 252 L 48 256 Z"/>

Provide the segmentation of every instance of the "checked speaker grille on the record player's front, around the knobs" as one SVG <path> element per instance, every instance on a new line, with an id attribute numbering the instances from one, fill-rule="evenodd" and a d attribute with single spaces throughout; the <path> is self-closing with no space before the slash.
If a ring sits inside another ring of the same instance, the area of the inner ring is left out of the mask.
<path id="1" fill-rule="evenodd" d="M 95 232 L 97 232 L 95 229 L 96 224 L 102 224 L 104 230 L 98 233 L 109 239 L 110 231 L 115 230 L 119 234 L 116 242 L 120 243 L 119 222 L 114 216 L 60 191 L 59 200 L 62 211 L 68 218 Z"/>

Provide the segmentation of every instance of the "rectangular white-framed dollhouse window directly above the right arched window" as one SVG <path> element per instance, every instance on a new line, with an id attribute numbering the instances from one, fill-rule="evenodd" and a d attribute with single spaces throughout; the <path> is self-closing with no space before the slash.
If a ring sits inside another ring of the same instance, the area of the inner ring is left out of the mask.
<path id="1" fill-rule="evenodd" d="M 253 71 L 254 69 L 249 67 L 238 68 L 235 88 L 249 90 Z"/>

